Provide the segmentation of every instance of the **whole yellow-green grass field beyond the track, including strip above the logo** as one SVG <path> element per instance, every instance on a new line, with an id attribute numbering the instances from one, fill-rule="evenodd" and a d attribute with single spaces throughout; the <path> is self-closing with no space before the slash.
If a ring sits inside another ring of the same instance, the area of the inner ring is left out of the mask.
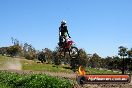
<path id="1" fill-rule="evenodd" d="M 2 66 L 6 61 L 15 60 L 11 57 L 5 57 L 0 55 L 0 65 Z M 22 65 L 22 70 L 35 70 L 35 71 L 50 71 L 50 72 L 67 72 L 71 73 L 72 70 L 68 69 L 68 66 L 56 66 L 54 64 L 42 64 L 33 60 L 19 59 Z M 95 68 L 86 68 L 87 74 L 121 74 L 112 70 L 99 70 Z"/>

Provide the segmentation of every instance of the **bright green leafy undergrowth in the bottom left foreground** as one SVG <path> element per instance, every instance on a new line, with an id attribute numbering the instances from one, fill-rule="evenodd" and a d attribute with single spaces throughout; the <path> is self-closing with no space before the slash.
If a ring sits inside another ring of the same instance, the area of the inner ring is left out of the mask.
<path id="1" fill-rule="evenodd" d="M 0 83 L 10 88 L 72 88 L 69 80 L 42 74 L 19 75 L 4 71 L 0 72 Z"/>

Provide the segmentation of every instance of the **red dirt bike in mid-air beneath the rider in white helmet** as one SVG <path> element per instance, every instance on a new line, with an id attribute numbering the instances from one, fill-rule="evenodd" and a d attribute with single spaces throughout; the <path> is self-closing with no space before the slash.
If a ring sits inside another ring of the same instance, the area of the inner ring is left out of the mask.
<path id="1" fill-rule="evenodd" d="M 63 43 L 62 46 L 59 47 L 59 52 L 61 56 L 63 53 L 63 57 L 65 57 L 66 52 L 68 52 L 70 58 L 72 59 L 78 58 L 79 56 L 78 48 L 75 46 L 75 43 L 70 40 L 70 38 L 67 39 L 66 43 Z"/>

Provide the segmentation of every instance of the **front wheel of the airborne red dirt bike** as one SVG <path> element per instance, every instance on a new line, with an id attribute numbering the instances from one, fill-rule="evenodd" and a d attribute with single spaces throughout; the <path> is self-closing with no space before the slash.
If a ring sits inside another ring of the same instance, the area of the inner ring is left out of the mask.
<path id="1" fill-rule="evenodd" d="M 70 56 L 72 59 L 78 58 L 78 56 L 79 56 L 78 48 L 72 46 L 72 47 L 69 49 L 69 56 Z"/>

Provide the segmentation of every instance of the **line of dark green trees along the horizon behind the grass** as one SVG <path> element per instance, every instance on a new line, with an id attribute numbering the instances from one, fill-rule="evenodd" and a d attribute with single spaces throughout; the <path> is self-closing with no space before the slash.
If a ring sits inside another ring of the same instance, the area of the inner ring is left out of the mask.
<path id="1" fill-rule="evenodd" d="M 107 68 L 107 69 L 122 69 L 121 65 L 124 64 L 124 69 L 132 71 L 132 48 L 128 49 L 124 46 L 119 47 L 118 56 L 108 56 L 101 58 L 98 54 L 87 54 L 84 49 L 79 49 L 79 57 L 71 59 L 66 53 L 65 58 L 60 55 L 59 47 L 56 47 L 54 51 L 49 48 L 44 48 L 42 51 L 37 51 L 31 44 L 21 44 L 17 39 L 12 39 L 12 46 L 0 47 L 0 54 L 5 56 L 22 56 L 28 60 L 38 59 L 42 63 L 55 65 L 70 65 L 71 69 L 76 69 L 78 66 L 92 68 Z M 90 57 L 89 57 L 90 55 Z"/>

